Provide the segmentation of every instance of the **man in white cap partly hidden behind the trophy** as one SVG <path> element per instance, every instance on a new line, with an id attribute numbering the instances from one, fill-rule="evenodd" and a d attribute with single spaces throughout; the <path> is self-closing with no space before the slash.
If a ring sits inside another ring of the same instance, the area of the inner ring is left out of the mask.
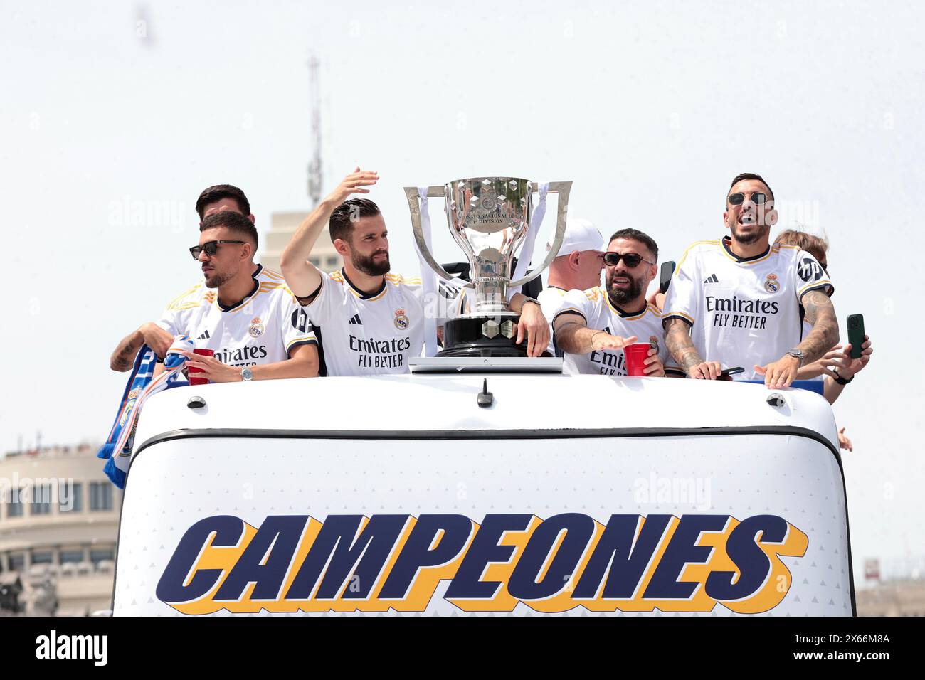
<path id="1" fill-rule="evenodd" d="M 565 225 L 565 236 L 559 254 L 549 266 L 549 282 L 537 299 L 543 315 L 550 321 L 562 306 L 565 293 L 572 290 L 586 291 L 600 285 L 600 270 L 604 268 L 604 237 L 589 220 L 570 218 Z M 546 249 L 552 247 L 546 244 Z M 555 353 L 552 339 L 549 352 Z"/>

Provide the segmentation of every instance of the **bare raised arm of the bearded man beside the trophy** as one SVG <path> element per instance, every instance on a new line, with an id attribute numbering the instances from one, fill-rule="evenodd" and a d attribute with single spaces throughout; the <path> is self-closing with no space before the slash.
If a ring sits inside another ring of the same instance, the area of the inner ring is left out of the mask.
<path id="1" fill-rule="evenodd" d="M 340 182 L 338 188 L 330 192 L 314 210 L 302 220 L 292 239 L 279 257 L 279 268 L 290 291 L 297 296 L 310 297 L 321 286 L 321 273 L 308 261 L 312 254 L 314 241 L 318 240 L 331 213 L 353 193 L 369 193 L 365 186 L 376 184 L 379 179 L 376 172 L 356 168 Z"/>

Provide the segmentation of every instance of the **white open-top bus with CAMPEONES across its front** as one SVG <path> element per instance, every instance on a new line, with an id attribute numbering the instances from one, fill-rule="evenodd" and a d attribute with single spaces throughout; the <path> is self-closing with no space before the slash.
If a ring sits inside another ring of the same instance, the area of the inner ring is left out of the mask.
<path id="1" fill-rule="evenodd" d="M 818 394 L 478 363 L 155 395 L 114 613 L 854 614 Z"/>

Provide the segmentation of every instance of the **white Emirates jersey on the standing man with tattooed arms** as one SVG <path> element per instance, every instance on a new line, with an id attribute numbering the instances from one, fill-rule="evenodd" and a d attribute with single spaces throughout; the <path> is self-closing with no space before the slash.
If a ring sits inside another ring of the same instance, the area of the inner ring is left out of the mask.
<path id="1" fill-rule="evenodd" d="M 755 380 L 761 378 L 755 365 L 777 361 L 803 339 L 803 295 L 833 285 L 816 258 L 796 246 L 740 258 L 730 242 L 697 241 L 685 251 L 664 317 L 690 325 L 704 361 L 742 366 L 735 377 Z"/>

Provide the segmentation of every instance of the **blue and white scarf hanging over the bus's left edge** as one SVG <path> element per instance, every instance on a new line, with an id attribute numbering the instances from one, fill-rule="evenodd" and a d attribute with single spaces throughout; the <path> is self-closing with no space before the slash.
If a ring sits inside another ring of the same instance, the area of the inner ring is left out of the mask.
<path id="1" fill-rule="evenodd" d="M 109 430 L 106 443 L 96 454 L 98 458 L 105 459 L 104 472 L 118 488 L 125 488 L 135 426 L 138 424 L 138 415 L 142 412 L 144 402 L 155 392 L 165 389 L 179 376 L 179 372 L 186 365 L 186 355 L 182 352 L 192 352 L 193 347 L 188 336 L 176 336 L 164 358 L 166 370 L 158 377 L 154 377 L 154 366 L 157 363 L 154 350 L 143 345 L 135 357 L 135 365 L 131 369 L 125 391 L 122 393 L 122 401 L 119 402 L 116 412 L 116 421 Z"/>

